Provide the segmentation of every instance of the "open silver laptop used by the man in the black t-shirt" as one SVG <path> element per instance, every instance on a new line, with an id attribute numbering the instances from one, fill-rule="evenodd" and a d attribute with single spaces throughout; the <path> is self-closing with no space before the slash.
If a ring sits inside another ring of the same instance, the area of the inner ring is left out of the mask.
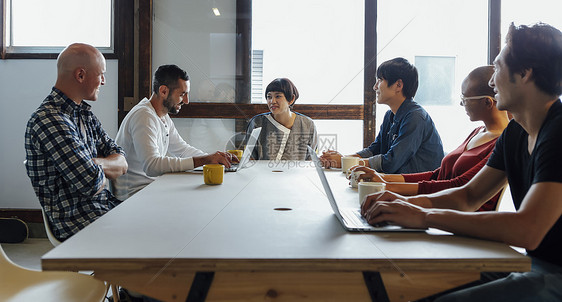
<path id="1" fill-rule="evenodd" d="M 396 225 L 385 225 L 380 227 L 375 227 L 370 225 L 367 220 L 363 216 L 361 216 L 361 212 L 359 208 L 340 208 L 338 207 L 338 203 L 336 202 L 336 198 L 332 193 L 332 189 L 330 188 L 330 183 L 326 178 L 326 174 L 324 174 L 324 169 L 320 163 L 320 159 L 316 152 L 312 150 L 312 148 L 308 147 L 308 153 L 312 157 L 312 162 L 316 167 L 316 172 L 320 177 L 320 181 L 322 182 L 322 186 L 324 187 L 324 191 L 326 192 L 326 196 L 328 197 L 328 201 L 330 201 L 330 205 L 332 206 L 332 210 L 336 217 L 340 221 L 341 225 L 344 229 L 353 232 L 420 232 L 425 231 L 425 229 L 407 229 Z"/>

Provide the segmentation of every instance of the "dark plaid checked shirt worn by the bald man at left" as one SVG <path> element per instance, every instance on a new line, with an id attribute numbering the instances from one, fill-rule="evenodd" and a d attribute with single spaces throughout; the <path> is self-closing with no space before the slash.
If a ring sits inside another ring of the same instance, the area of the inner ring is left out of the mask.
<path id="1" fill-rule="evenodd" d="M 125 155 L 103 130 L 90 105 L 77 105 L 53 87 L 25 131 L 27 175 L 54 235 L 67 239 L 120 201 L 100 190 L 104 172 L 93 161 Z"/>

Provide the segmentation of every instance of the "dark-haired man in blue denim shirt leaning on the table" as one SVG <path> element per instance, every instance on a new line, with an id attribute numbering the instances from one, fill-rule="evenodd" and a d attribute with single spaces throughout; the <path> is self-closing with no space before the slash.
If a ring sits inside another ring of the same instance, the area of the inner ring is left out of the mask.
<path id="1" fill-rule="evenodd" d="M 429 114 L 413 97 L 418 71 L 404 58 L 386 61 L 377 69 L 377 103 L 390 107 L 379 134 L 367 148 L 352 156 L 368 158 L 363 165 L 383 173 L 415 173 L 435 170 L 443 159 L 441 137 Z M 320 159 L 326 167 L 341 167 L 342 155 L 326 151 Z"/>

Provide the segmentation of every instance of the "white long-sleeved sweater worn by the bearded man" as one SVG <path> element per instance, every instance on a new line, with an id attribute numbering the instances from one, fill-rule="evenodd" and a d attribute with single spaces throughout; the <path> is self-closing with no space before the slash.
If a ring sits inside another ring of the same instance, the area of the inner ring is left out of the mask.
<path id="1" fill-rule="evenodd" d="M 115 196 L 121 200 L 157 176 L 193 169 L 193 157 L 206 154 L 186 143 L 170 116 L 160 118 L 147 98 L 125 116 L 115 141 L 125 150 L 129 164 L 127 173 L 113 181 Z"/>

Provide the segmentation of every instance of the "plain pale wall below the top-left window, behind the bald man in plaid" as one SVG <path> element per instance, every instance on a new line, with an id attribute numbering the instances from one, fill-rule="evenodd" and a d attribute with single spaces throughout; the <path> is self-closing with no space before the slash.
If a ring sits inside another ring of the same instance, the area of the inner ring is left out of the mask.
<path id="1" fill-rule="evenodd" d="M 31 113 L 56 80 L 55 60 L 0 60 L 0 208 L 38 209 L 23 161 Z M 117 134 L 117 60 L 107 62 L 106 84 L 89 102 L 111 137 Z"/>

